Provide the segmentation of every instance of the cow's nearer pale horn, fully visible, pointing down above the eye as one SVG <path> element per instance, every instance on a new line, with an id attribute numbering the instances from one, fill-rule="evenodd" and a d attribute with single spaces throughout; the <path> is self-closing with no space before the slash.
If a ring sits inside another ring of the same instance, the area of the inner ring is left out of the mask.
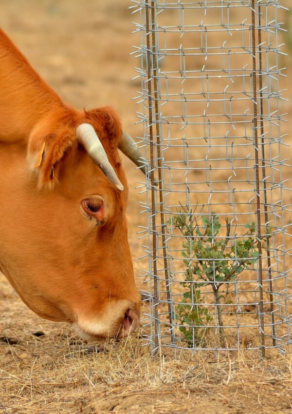
<path id="1" fill-rule="evenodd" d="M 110 181 L 120 190 L 124 190 L 123 184 L 117 177 L 114 169 L 110 165 L 107 153 L 102 146 L 94 128 L 88 123 L 83 123 L 76 128 L 78 142 L 84 147 L 88 155 L 103 170 Z"/>

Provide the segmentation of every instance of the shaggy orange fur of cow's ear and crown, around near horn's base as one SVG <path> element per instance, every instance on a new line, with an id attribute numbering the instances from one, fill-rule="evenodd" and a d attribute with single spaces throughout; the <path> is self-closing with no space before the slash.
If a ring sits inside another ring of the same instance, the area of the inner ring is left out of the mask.
<path id="1" fill-rule="evenodd" d="M 39 189 L 53 189 L 58 182 L 61 161 L 71 148 L 78 146 L 75 130 L 83 122 L 90 123 L 95 129 L 112 166 L 115 168 L 120 164 L 117 146 L 122 127 L 111 108 L 96 108 L 82 113 L 69 108 L 52 111 L 35 125 L 28 141 L 29 166 L 38 175 Z"/>

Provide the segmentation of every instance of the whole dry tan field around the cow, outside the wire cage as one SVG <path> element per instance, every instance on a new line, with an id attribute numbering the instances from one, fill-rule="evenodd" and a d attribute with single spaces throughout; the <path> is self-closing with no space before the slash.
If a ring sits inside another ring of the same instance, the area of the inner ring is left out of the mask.
<path id="1" fill-rule="evenodd" d="M 139 136 L 131 100 L 139 83 L 130 81 L 136 62 L 129 56 L 138 38 L 130 35 L 129 5 L 125 0 L 2 0 L 0 24 L 65 101 L 78 108 L 110 104 L 128 132 Z M 285 65 L 292 75 L 291 58 Z M 283 112 L 290 117 L 291 105 Z M 139 276 L 147 266 L 138 260 L 142 248 L 136 234 L 145 220 L 138 204 L 143 195 L 135 189 L 139 173 L 124 161 L 129 242 Z M 142 279 L 137 278 L 140 288 Z M 119 342 L 85 344 L 70 326 L 33 314 L 2 275 L 0 315 L 0 413 L 292 413 L 289 353 L 269 352 L 265 360 L 256 352 L 218 359 L 207 352 L 182 353 L 177 360 L 165 353 L 151 360 L 143 330 Z"/>

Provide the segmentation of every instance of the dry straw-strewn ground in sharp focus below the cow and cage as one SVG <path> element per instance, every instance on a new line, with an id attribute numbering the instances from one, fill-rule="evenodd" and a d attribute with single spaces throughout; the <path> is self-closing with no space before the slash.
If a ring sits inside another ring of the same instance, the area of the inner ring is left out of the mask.
<path id="1" fill-rule="evenodd" d="M 291 413 L 288 356 L 198 352 L 151 361 L 139 337 L 93 348 L 30 316 L 18 336 L 6 331 L 17 344 L 0 345 L 3 413 Z"/>

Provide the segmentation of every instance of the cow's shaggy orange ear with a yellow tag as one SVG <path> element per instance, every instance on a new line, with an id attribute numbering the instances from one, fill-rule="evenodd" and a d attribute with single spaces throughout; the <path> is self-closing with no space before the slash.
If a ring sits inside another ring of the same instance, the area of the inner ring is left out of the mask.
<path id="1" fill-rule="evenodd" d="M 73 142 L 76 142 L 75 135 L 71 128 L 66 126 L 45 136 L 31 134 L 28 161 L 30 170 L 37 174 L 38 188 L 54 188 L 59 178 L 62 160 Z"/>

